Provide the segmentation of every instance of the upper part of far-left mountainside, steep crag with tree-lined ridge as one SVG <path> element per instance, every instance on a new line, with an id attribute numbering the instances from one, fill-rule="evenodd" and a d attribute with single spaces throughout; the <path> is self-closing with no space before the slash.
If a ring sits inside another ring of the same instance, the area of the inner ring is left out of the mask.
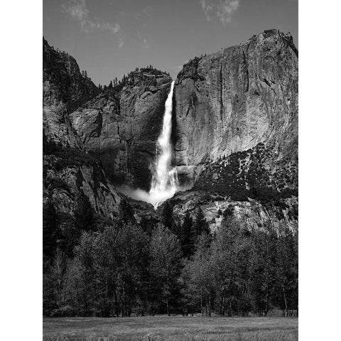
<path id="1" fill-rule="evenodd" d="M 82 148 L 69 113 L 99 90 L 80 73 L 75 58 L 51 48 L 43 39 L 43 136 L 44 143 Z"/>

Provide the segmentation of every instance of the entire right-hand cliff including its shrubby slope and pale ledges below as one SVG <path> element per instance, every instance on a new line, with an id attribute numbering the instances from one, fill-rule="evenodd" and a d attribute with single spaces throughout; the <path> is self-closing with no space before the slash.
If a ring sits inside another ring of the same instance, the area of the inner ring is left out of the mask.
<path id="1" fill-rule="evenodd" d="M 175 212 L 202 205 L 211 227 L 229 205 L 239 220 L 298 219 L 298 50 L 264 31 L 243 45 L 194 58 L 175 81 L 173 139 L 179 178 L 191 190 Z"/>

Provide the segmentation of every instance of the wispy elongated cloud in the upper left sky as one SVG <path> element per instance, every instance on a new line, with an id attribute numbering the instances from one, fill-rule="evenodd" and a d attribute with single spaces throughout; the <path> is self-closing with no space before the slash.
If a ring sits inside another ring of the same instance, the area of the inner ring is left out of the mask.
<path id="1" fill-rule="evenodd" d="M 91 18 L 90 11 L 87 9 L 85 0 L 68 0 L 62 4 L 63 11 L 69 14 L 73 19 L 80 23 L 80 28 L 83 32 L 89 33 L 92 31 L 110 31 L 114 34 L 121 30 L 118 23 L 107 23 Z M 119 46 L 123 45 L 123 39 L 119 38 Z"/>

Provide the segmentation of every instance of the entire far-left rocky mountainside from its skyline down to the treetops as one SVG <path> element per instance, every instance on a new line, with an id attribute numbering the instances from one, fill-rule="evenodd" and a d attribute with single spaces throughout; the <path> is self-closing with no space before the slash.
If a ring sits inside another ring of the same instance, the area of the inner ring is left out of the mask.
<path id="1" fill-rule="evenodd" d="M 52 200 L 60 215 L 72 215 L 83 193 L 98 215 L 117 214 L 117 190 L 70 121 L 70 112 L 98 92 L 74 58 L 43 40 L 43 200 Z"/>

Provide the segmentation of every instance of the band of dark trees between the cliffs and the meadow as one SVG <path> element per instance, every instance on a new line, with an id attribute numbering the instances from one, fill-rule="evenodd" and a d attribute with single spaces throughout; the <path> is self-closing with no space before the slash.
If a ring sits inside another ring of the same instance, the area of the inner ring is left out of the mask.
<path id="1" fill-rule="evenodd" d="M 89 206 L 78 200 L 67 237 L 44 206 L 45 316 L 298 312 L 296 229 L 248 229 L 229 207 L 211 233 L 200 207 L 177 224 L 168 202 L 161 222 L 138 223 L 124 200 L 117 222 L 97 224 Z"/>

